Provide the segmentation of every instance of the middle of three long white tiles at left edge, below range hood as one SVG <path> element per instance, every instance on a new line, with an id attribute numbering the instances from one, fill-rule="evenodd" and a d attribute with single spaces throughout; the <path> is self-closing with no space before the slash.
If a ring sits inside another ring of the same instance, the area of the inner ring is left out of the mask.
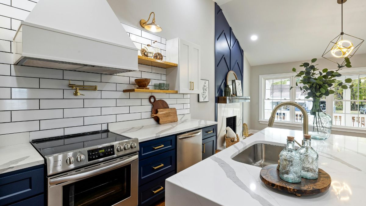
<path id="1" fill-rule="evenodd" d="M 38 99 L 0 99 L 0 111 L 4 110 L 36 110 L 39 109 Z"/>

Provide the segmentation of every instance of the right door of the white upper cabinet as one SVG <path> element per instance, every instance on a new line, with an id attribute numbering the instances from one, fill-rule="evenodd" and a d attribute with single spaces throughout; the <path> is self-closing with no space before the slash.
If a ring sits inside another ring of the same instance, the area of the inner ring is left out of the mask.
<path id="1" fill-rule="evenodd" d="M 199 93 L 199 80 L 201 79 L 201 51 L 198 45 L 191 44 L 190 45 L 190 76 L 192 82 L 192 90 L 191 93 L 198 94 Z"/>

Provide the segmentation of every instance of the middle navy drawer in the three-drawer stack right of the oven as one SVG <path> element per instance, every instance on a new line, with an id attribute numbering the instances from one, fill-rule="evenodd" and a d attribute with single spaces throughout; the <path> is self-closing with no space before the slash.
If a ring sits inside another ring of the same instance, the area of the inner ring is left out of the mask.
<path id="1" fill-rule="evenodd" d="M 175 150 L 158 154 L 139 161 L 139 185 L 148 183 L 157 177 L 174 171 L 176 167 Z"/>

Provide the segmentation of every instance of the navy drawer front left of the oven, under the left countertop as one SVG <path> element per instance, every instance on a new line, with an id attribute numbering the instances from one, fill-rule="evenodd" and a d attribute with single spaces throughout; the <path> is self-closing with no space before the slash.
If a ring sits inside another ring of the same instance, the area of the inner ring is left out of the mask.
<path id="1" fill-rule="evenodd" d="M 19 173 L 0 177 L 0 205 L 26 199 L 43 191 L 43 166 L 33 170 L 19 170 Z"/>

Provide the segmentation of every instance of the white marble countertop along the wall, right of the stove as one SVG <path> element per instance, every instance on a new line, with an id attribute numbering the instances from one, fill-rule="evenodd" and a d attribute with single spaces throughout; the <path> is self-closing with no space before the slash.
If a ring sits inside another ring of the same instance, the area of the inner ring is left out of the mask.
<path id="1" fill-rule="evenodd" d="M 142 142 L 216 124 L 217 122 L 201 119 L 183 119 L 179 120 L 178 122 L 172 122 L 168 124 L 136 126 L 125 129 L 111 130 L 111 132 L 115 132 L 130 138 L 138 138 L 139 142 Z"/>

